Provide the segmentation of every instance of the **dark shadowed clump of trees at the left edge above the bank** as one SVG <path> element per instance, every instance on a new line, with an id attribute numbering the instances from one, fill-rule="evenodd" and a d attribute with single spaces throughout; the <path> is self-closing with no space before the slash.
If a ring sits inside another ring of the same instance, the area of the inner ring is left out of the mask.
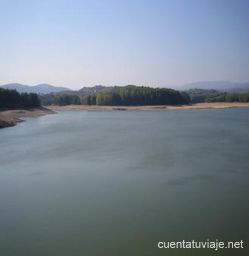
<path id="1" fill-rule="evenodd" d="M 32 108 L 40 106 L 36 93 L 19 93 L 0 88 L 0 108 Z"/>

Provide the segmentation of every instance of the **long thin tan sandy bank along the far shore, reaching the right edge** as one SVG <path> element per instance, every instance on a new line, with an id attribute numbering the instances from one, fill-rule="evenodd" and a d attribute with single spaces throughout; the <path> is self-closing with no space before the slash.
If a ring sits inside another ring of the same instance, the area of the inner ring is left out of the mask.
<path id="1" fill-rule="evenodd" d="M 249 102 L 214 102 L 199 103 L 192 105 L 160 105 L 160 106 L 88 106 L 88 105 L 67 105 L 67 106 L 49 106 L 51 110 L 170 110 L 170 109 L 225 109 L 225 108 L 249 108 Z"/>

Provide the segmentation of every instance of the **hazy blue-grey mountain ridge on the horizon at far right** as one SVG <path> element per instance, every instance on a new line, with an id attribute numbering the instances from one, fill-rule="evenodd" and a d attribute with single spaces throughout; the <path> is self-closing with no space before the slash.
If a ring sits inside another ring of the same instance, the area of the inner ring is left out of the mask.
<path id="1" fill-rule="evenodd" d="M 238 92 L 246 93 L 249 92 L 249 82 L 229 82 L 229 81 L 202 81 L 202 82 L 191 82 L 179 86 L 178 90 L 188 89 L 205 89 L 205 90 L 218 90 L 220 92 Z"/>

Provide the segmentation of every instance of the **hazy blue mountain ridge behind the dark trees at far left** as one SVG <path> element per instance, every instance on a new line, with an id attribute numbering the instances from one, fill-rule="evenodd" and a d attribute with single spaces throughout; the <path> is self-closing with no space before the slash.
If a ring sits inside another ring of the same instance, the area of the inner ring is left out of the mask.
<path id="1" fill-rule="evenodd" d="M 15 89 L 19 93 L 23 93 L 23 92 L 31 93 L 32 92 L 32 93 L 42 93 L 42 94 L 46 94 L 46 93 L 50 93 L 50 92 L 56 93 L 56 92 L 71 90 L 66 87 L 56 87 L 56 86 L 49 85 L 49 84 L 38 84 L 38 85 L 34 85 L 34 86 L 29 86 L 29 85 L 18 84 L 18 83 L 5 84 L 5 85 L 0 86 L 0 88 Z"/>

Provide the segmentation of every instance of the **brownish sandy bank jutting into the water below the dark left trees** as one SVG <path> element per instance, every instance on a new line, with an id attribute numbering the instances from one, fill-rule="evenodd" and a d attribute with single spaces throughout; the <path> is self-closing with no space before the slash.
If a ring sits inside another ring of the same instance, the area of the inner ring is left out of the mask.
<path id="1" fill-rule="evenodd" d="M 41 117 L 42 115 L 54 114 L 53 110 L 47 108 L 36 109 L 12 109 L 0 110 L 0 128 L 15 126 L 19 122 L 23 122 L 22 117 Z"/>

